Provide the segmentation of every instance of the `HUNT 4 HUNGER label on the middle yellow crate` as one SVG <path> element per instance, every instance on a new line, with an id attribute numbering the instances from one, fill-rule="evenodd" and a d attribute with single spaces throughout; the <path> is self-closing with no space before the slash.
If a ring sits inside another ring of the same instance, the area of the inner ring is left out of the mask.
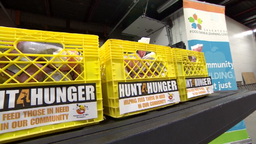
<path id="1" fill-rule="evenodd" d="M 176 79 L 118 82 L 120 114 L 180 102 Z"/>

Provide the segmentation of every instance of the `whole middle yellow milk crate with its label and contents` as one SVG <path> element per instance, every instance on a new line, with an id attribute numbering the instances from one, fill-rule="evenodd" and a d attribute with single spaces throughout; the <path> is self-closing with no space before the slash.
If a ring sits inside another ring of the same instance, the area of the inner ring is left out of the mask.
<path id="1" fill-rule="evenodd" d="M 170 47 L 109 39 L 99 51 L 104 114 L 120 118 L 180 101 Z"/>

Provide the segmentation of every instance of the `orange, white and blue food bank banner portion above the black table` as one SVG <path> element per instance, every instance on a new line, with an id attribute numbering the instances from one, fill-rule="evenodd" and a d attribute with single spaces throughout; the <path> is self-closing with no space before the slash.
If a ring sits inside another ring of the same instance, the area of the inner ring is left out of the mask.
<path id="1" fill-rule="evenodd" d="M 237 90 L 228 42 L 225 8 L 184 0 L 183 10 L 189 50 L 204 52 L 214 90 Z"/>

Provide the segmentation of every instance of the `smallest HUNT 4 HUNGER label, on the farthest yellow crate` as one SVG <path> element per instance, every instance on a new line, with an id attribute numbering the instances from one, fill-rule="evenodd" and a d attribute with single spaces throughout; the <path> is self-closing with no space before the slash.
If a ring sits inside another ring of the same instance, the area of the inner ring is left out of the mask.
<path id="1" fill-rule="evenodd" d="M 213 93 L 211 77 L 186 78 L 187 98 Z"/>

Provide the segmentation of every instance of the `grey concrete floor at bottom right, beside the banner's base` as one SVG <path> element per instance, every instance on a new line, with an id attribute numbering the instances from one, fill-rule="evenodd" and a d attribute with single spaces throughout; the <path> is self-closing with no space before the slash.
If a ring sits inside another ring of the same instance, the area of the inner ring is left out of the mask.
<path id="1" fill-rule="evenodd" d="M 245 118 L 245 126 L 252 143 L 256 144 L 256 111 Z"/>

